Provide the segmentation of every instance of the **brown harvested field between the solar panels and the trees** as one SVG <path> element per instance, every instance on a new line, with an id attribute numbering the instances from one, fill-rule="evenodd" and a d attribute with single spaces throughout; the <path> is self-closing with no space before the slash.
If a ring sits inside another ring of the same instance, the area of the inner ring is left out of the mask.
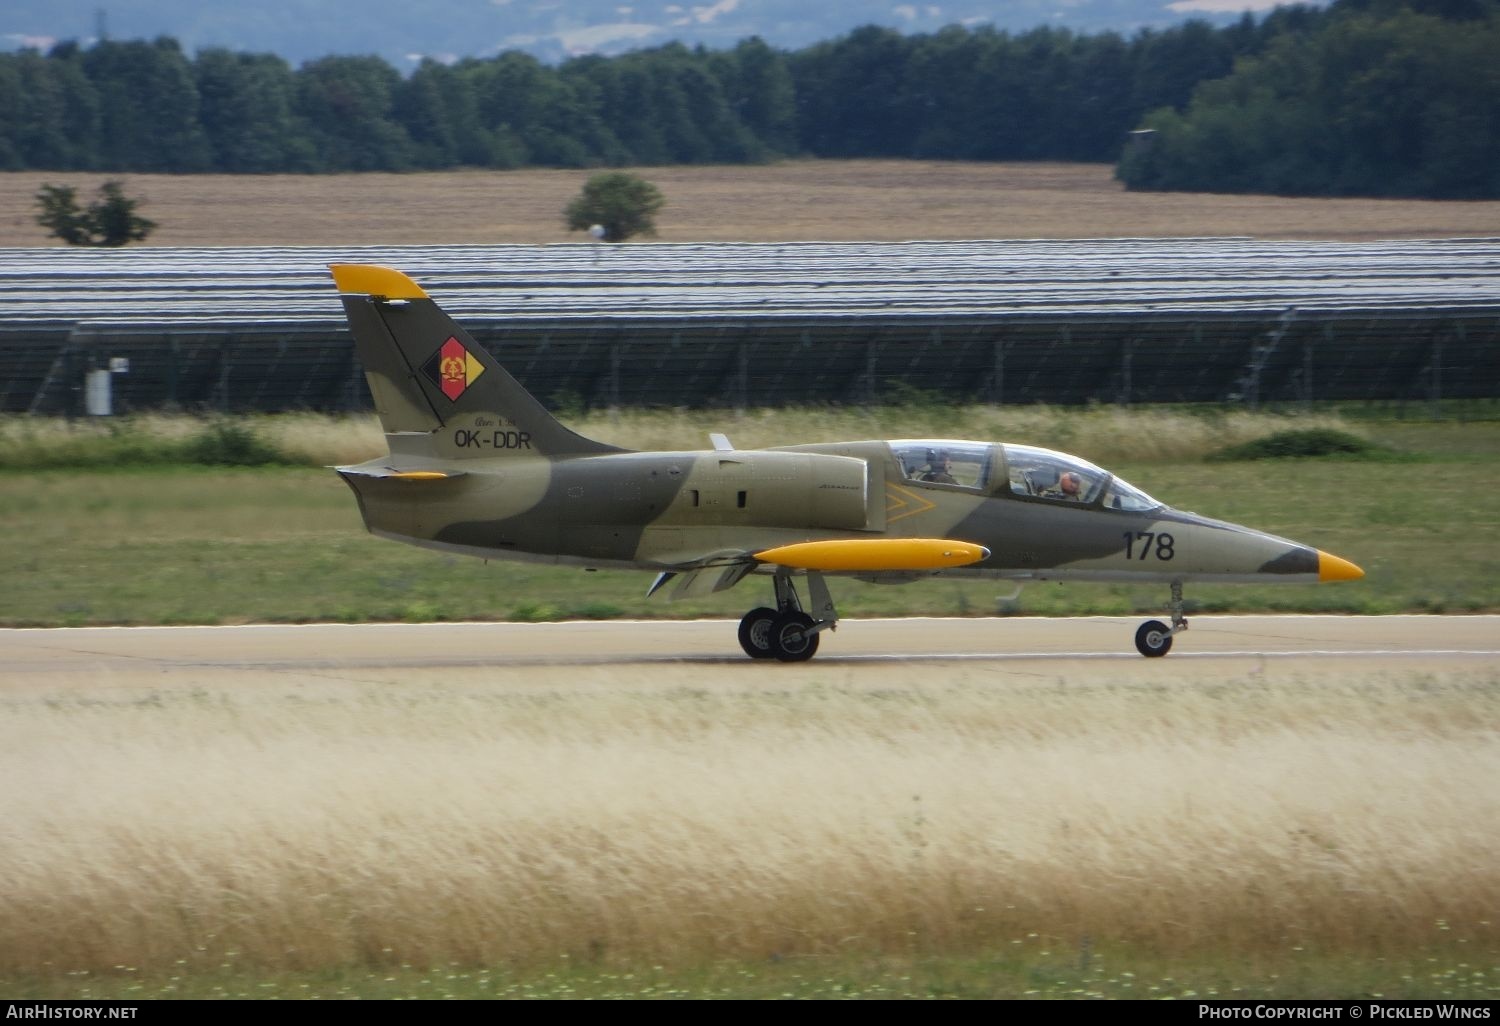
<path id="1" fill-rule="evenodd" d="M 1104 164 L 788 160 L 640 168 L 668 206 L 662 242 L 1500 234 L 1500 202 L 1132 194 Z M 158 246 L 556 243 L 586 171 L 123 176 Z M 90 195 L 108 176 L 0 174 L 0 244 L 46 246 L 44 183 Z"/>

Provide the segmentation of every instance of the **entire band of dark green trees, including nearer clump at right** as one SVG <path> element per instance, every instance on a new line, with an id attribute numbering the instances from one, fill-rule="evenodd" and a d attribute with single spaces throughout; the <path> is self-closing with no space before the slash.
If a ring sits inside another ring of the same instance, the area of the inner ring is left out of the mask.
<path id="1" fill-rule="evenodd" d="M 1150 144 L 1120 164 L 1132 188 L 1492 195 L 1497 8 L 1336 0 L 1130 38 L 864 27 L 798 51 L 506 52 L 410 75 L 378 57 L 188 56 L 166 38 L 62 44 L 0 54 L 0 170 L 1116 160 L 1144 124 Z M 1419 170 L 1392 176 L 1413 153 Z M 1456 184 L 1430 166 L 1484 154 Z"/>

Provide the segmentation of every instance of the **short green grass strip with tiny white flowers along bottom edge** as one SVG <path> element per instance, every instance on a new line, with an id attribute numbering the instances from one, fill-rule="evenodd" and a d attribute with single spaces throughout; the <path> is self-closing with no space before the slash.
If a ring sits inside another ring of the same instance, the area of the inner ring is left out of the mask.
<path id="1" fill-rule="evenodd" d="M 1492 954 L 1443 945 L 1424 957 L 1360 958 L 1292 952 L 1245 963 L 1226 954 L 1192 963 L 1092 951 L 1029 936 L 992 954 L 926 958 L 766 958 L 705 966 L 570 964 L 394 966 L 312 972 L 70 972 L 0 976 L 12 999 L 1150 999 L 1150 1000 L 1496 1000 Z"/>

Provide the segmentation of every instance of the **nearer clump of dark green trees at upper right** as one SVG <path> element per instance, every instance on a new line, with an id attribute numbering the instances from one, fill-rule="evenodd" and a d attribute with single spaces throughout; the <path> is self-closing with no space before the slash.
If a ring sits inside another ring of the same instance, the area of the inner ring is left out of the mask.
<path id="1" fill-rule="evenodd" d="M 1132 189 L 1500 198 L 1500 3 L 1344 0 L 1186 108 L 1146 116 Z"/>

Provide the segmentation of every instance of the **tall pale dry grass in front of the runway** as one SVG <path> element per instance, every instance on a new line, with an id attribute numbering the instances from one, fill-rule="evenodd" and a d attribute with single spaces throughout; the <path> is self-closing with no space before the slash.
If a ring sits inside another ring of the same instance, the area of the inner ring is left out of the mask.
<path id="1" fill-rule="evenodd" d="M 10 690 L 0 980 L 1130 952 L 1494 994 L 1492 670 L 1149 669 Z"/>

